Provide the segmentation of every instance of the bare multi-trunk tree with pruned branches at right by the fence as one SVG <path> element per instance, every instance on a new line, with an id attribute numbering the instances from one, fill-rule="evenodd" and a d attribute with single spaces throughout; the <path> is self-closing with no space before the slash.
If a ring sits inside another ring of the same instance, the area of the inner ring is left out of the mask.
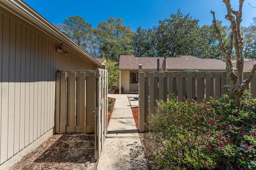
<path id="1" fill-rule="evenodd" d="M 244 90 L 246 86 L 248 85 L 248 83 L 250 83 L 256 71 L 256 64 L 253 66 L 250 75 L 245 80 L 243 80 L 244 42 L 241 34 L 240 24 L 242 21 L 242 6 L 243 6 L 244 0 L 239 1 L 238 11 L 232 10 L 230 5 L 230 0 L 223 0 L 223 2 L 225 3 L 228 11 L 228 14 L 225 16 L 225 18 L 230 21 L 230 28 L 232 29 L 232 34 L 230 35 L 229 50 L 226 49 L 223 43 L 222 35 L 216 23 L 215 13 L 213 11 L 211 11 L 211 13 L 213 15 L 213 23 L 214 23 L 216 38 L 218 38 L 218 41 L 222 50 L 222 55 L 226 60 L 226 73 L 227 73 L 228 79 L 230 80 L 230 84 L 232 88 L 230 98 L 234 99 L 236 107 L 240 109 L 242 95 L 244 94 Z M 237 68 L 236 72 L 232 64 L 233 47 L 236 53 L 236 68 Z"/>

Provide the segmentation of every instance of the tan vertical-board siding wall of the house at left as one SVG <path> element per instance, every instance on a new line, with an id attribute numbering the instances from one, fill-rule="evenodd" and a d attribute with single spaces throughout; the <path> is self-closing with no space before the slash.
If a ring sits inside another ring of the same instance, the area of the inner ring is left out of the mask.
<path id="1" fill-rule="evenodd" d="M 54 127 L 58 70 L 96 65 L 0 12 L 0 164 Z"/>

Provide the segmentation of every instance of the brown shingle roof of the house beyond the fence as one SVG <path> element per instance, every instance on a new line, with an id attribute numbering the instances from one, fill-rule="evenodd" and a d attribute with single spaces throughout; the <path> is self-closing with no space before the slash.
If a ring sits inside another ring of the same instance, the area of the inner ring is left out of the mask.
<path id="1" fill-rule="evenodd" d="M 134 55 L 120 55 L 120 70 L 138 70 L 138 65 L 142 65 L 143 70 L 157 70 L 157 59 L 160 65 L 164 57 L 134 57 Z M 190 55 L 177 55 L 167 57 L 167 70 L 179 71 L 185 69 L 197 69 L 202 71 L 225 71 L 226 63 L 217 59 L 201 59 Z"/>

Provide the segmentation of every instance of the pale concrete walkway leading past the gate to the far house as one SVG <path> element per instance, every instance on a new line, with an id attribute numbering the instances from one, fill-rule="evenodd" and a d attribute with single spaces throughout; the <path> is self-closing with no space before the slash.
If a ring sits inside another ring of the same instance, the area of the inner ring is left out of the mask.
<path id="1" fill-rule="evenodd" d="M 116 99 L 97 170 L 148 170 L 131 107 L 137 95 L 109 94 Z"/>

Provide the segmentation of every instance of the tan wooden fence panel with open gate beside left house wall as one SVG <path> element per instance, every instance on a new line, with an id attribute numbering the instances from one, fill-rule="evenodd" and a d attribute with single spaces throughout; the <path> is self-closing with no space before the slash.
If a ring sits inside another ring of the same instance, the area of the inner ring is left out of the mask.
<path id="1" fill-rule="evenodd" d="M 58 71 L 55 132 L 95 133 L 95 159 L 107 131 L 108 71 Z"/>

